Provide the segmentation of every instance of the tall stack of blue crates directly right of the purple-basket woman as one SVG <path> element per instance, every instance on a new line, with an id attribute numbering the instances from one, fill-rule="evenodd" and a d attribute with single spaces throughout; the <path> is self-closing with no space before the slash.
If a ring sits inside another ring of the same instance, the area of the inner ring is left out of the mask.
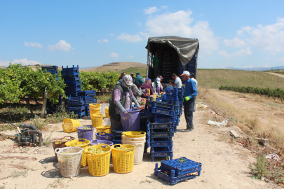
<path id="1" fill-rule="evenodd" d="M 151 159 L 156 157 L 169 157 L 173 159 L 173 139 L 175 130 L 175 121 L 180 106 L 176 101 L 170 99 L 170 102 L 160 102 L 159 99 L 153 101 L 153 98 L 147 98 L 145 109 L 149 117 L 149 135 L 146 144 L 151 147 Z"/>

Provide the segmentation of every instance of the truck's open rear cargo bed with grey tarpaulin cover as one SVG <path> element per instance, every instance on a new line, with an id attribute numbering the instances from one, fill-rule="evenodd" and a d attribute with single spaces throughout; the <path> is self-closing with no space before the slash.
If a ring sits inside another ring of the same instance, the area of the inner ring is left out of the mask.
<path id="1" fill-rule="evenodd" d="M 153 57 L 158 52 L 160 75 L 162 83 L 173 81 L 172 74 L 180 76 L 183 71 L 189 71 L 197 76 L 197 60 L 199 42 L 197 38 L 179 36 L 161 36 L 148 38 L 147 78 L 155 80 Z M 182 80 L 182 83 L 184 81 Z"/>

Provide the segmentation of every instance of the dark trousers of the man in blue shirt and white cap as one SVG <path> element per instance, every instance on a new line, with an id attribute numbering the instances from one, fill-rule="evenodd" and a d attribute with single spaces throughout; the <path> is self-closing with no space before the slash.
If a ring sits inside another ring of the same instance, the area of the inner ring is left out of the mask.
<path id="1" fill-rule="evenodd" d="M 195 109 L 195 97 L 185 101 L 184 99 L 184 117 L 187 122 L 187 129 L 194 129 L 194 109 Z"/>

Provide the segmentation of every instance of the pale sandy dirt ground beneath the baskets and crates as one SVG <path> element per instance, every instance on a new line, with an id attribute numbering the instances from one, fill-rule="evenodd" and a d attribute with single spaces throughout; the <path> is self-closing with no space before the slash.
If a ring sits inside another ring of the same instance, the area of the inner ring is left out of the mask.
<path id="1" fill-rule="evenodd" d="M 197 109 L 194 113 L 193 132 L 186 128 L 184 116 L 173 137 L 174 158 L 186 157 L 202 163 L 201 176 L 170 186 L 154 176 L 156 162 L 151 162 L 150 149 L 142 164 L 133 172 L 117 174 L 110 168 L 102 177 L 90 176 L 88 167 L 81 168 L 76 178 L 62 178 L 52 146 L 19 148 L 15 139 L 0 141 L 0 187 L 2 188 L 278 188 L 273 183 L 253 180 L 248 165 L 256 158 L 250 151 L 234 141 L 226 141 L 229 130 L 242 134 L 236 126 L 208 126 L 210 109 Z M 81 125 L 91 125 L 90 119 L 81 119 Z M 11 131 L 13 133 L 13 131 Z M 51 136 L 50 136 L 51 134 Z M 62 125 L 48 125 L 43 139 L 66 134 Z M 161 161 L 162 159 L 156 159 Z M 111 165 L 112 166 L 112 165 Z"/>

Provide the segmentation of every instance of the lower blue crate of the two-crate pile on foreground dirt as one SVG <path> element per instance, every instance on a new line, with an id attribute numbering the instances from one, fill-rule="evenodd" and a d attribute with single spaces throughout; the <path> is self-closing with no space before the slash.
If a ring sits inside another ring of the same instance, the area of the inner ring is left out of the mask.
<path id="1" fill-rule="evenodd" d="M 176 184 L 178 182 L 185 181 L 185 180 L 196 178 L 196 174 L 184 174 L 182 176 L 175 176 L 175 171 L 169 172 L 169 174 L 165 174 L 165 173 L 161 171 L 161 168 L 158 168 L 158 163 L 156 163 L 154 175 L 157 176 L 159 179 L 163 179 L 167 183 L 170 183 L 171 185 Z"/>

